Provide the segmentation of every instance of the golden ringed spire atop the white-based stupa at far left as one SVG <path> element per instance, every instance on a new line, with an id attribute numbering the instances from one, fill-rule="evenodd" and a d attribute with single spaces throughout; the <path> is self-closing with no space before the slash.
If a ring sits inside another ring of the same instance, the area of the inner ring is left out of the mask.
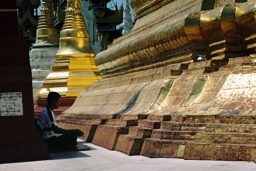
<path id="1" fill-rule="evenodd" d="M 42 0 L 38 26 L 36 30 L 36 42 L 33 48 L 41 46 L 59 46 L 59 37 L 54 25 L 53 9 L 51 0 Z"/>

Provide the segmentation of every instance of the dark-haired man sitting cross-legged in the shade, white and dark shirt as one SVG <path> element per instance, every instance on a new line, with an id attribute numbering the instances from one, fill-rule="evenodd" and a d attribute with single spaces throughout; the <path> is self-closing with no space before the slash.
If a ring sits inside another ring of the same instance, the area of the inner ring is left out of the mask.
<path id="1" fill-rule="evenodd" d="M 76 130 L 66 130 L 59 128 L 54 119 L 54 109 L 58 109 L 61 102 L 61 95 L 57 92 L 50 92 L 47 97 L 48 105 L 40 113 L 37 124 L 41 129 L 50 128 L 42 134 L 45 138 L 49 151 L 68 150 L 77 147 L 77 137 L 83 136 L 83 132 Z M 50 115 L 52 114 L 52 116 Z M 52 118 L 51 118 L 52 117 Z M 52 122 L 51 122 L 52 120 Z M 51 131 L 52 130 L 52 131 Z M 55 134 L 62 134 L 56 136 Z"/>

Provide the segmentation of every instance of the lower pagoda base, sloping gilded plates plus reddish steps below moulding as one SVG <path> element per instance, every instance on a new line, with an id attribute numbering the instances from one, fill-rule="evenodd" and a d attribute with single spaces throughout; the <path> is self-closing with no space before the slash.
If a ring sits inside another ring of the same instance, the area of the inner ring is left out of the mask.
<path id="1" fill-rule="evenodd" d="M 254 74 L 254 57 L 246 56 L 104 79 L 56 121 L 86 131 L 85 141 L 128 155 L 254 161 L 255 107 L 242 94 L 254 92 Z"/>

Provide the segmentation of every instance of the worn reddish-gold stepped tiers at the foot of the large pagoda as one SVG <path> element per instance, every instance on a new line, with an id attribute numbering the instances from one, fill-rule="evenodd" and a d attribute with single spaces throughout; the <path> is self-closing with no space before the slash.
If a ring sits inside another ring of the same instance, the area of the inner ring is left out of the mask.
<path id="1" fill-rule="evenodd" d="M 190 119 L 197 117 L 190 116 Z M 60 127 L 84 131 L 85 141 L 128 155 L 254 161 L 256 124 L 248 124 L 254 118 L 242 124 L 241 116 L 218 115 L 215 119 L 225 121 L 227 117 L 240 124 L 92 119 L 62 115 L 57 118 L 66 120 L 57 119 L 57 122 Z M 187 117 L 182 118 L 185 120 Z M 177 120 L 177 116 L 172 115 L 171 119 Z"/>

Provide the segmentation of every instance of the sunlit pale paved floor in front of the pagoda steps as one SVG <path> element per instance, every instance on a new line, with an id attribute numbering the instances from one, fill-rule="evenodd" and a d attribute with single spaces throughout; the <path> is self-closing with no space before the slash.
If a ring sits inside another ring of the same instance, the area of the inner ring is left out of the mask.
<path id="1" fill-rule="evenodd" d="M 128 156 L 78 139 L 89 151 L 50 153 L 52 160 L 0 164 L 0 171 L 256 171 L 256 163 Z"/>

